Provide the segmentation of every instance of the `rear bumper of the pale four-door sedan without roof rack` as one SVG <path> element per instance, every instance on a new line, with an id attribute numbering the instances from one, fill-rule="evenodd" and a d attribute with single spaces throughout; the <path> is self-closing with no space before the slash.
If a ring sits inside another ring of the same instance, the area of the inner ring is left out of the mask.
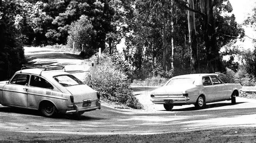
<path id="1" fill-rule="evenodd" d="M 178 97 L 178 98 L 151 98 L 150 101 L 155 104 L 165 104 L 164 100 L 172 100 L 174 104 L 187 104 L 189 97 Z"/>

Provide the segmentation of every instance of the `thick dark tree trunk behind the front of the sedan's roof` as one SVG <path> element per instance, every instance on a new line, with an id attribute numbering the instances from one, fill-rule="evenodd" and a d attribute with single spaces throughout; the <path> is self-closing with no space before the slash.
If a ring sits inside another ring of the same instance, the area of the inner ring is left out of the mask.
<path id="1" fill-rule="evenodd" d="M 210 73 L 220 71 L 222 67 L 213 21 L 213 3 L 214 0 L 200 0 L 201 12 L 205 14 L 203 18 L 203 33 L 206 46 L 206 60 Z"/>

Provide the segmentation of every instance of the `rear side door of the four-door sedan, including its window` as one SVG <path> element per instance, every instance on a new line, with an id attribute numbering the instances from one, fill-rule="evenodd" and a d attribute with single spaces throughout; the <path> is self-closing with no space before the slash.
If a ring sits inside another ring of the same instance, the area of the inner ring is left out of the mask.
<path id="1" fill-rule="evenodd" d="M 215 87 L 211 82 L 211 79 L 209 76 L 204 76 L 202 77 L 202 83 L 204 86 L 204 92 L 206 96 L 206 102 L 214 101 L 216 96 L 215 96 Z"/>

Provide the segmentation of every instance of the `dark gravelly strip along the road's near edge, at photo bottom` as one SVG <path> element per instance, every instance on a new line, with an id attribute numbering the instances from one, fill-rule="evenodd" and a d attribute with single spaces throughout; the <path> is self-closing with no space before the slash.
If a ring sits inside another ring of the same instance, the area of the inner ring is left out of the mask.
<path id="1" fill-rule="evenodd" d="M 9 134 L 9 133 L 8 133 Z M 3 133 L 1 143 L 248 143 L 256 142 L 256 127 L 235 127 L 228 129 L 198 130 L 190 132 L 171 132 L 165 134 L 149 135 L 107 135 L 82 136 L 43 134 L 43 133 L 16 133 L 6 136 Z"/>

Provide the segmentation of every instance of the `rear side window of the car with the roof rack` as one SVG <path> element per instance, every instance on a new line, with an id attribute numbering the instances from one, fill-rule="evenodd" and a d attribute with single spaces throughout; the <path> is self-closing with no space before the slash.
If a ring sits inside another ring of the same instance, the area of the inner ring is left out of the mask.
<path id="1" fill-rule="evenodd" d="M 48 81 L 35 75 L 31 76 L 30 86 L 41 87 L 45 89 L 53 89 L 53 86 Z"/>

